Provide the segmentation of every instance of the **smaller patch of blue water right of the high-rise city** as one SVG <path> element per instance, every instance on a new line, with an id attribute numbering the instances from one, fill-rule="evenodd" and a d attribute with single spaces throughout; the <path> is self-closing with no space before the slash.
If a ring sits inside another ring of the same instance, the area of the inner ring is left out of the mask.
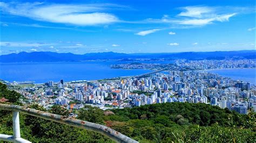
<path id="1" fill-rule="evenodd" d="M 207 70 L 207 72 L 219 74 L 224 77 L 230 77 L 234 80 L 250 82 L 256 85 L 256 68 L 250 69 L 217 69 Z"/>

